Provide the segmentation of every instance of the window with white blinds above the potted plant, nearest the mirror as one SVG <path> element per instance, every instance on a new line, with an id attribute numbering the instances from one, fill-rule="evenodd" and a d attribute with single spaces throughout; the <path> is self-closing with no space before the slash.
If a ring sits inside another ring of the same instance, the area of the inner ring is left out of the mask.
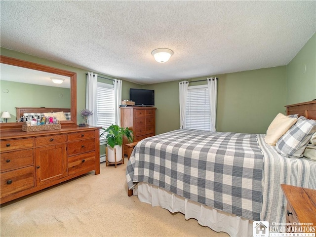
<path id="1" fill-rule="evenodd" d="M 97 126 L 106 128 L 114 123 L 114 86 L 111 84 L 98 82 Z M 102 133 L 102 130 L 100 130 L 100 133 Z"/>

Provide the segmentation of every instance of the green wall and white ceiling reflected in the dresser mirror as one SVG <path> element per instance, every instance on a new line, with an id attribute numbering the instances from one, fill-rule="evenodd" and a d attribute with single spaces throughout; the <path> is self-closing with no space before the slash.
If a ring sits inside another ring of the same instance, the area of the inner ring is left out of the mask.
<path id="1" fill-rule="evenodd" d="M 53 80 L 62 83 L 54 83 Z M 70 77 L 1 64 L 1 112 L 8 111 L 8 122 L 20 119 L 17 107 L 68 108 L 71 106 Z"/>

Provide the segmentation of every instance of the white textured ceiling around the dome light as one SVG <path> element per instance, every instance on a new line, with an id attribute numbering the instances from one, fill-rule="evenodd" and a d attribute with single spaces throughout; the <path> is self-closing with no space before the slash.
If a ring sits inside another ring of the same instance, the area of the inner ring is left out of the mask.
<path id="1" fill-rule="evenodd" d="M 316 32 L 315 0 L 0 4 L 1 47 L 140 84 L 286 65 Z"/>

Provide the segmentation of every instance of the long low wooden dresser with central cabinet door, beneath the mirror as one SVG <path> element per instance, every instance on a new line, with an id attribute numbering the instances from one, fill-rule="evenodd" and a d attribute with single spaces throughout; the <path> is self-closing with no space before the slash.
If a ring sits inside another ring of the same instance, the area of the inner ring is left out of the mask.
<path id="1" fill-rule="evenodd" d="M 98 127 L 0 134 L 1 204 L 94 170 L 100 173 Z"/>

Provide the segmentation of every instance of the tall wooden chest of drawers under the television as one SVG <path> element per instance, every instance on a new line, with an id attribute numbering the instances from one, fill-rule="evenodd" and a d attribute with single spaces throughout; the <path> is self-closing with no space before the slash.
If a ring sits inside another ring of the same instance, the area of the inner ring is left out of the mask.
<path id="1" fill-rule="evenodd" d="M 155 114 L 155 107 L 120 107 L 120 125 L 131 129 L 134 132 L 134 142 L 138 142 L 146 137 L 155 135 Z M 126 143 L 127 139 L 124 138 L 123 146 Z M 124 154 L 127 155 L 125 147 Z"/>

